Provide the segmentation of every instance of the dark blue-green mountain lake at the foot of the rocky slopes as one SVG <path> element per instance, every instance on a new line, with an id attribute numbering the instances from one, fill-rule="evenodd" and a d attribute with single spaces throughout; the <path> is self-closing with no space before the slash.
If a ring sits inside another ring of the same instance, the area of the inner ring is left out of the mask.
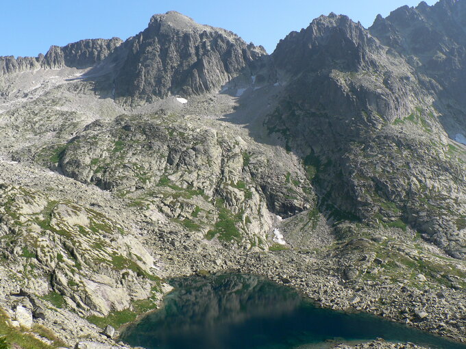
<path id="1" fill-rule="evenodd" d="M 121 335 L 147 349 L 326 348 L 329 341 L 410 341 L 430 348 L 466 349 L 441 337 L 367 314 L 319 309 L 283 287 L 243 274 L 171 281 L 159 311 Z"/>

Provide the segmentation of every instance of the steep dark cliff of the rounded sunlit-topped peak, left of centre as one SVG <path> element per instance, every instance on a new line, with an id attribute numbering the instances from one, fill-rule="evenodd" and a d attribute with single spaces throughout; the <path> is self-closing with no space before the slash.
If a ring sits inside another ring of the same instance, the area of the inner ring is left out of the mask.
<path id="1" fill-rule="evenodd" d="M 122 60 L 116 96 L 150 100 L 213 92 L 250 70 L 260 55 L 265 55 L 262 47 L 246 44 L 231 31 L 199 25 L 177 12 L 158 14 L 116 53 Z"/>

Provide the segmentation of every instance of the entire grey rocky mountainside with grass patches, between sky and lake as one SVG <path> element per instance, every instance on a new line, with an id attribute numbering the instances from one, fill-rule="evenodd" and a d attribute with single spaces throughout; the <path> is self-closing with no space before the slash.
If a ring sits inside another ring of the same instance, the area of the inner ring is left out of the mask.
<path id="1" fill-rule="evenodd" d="M 0 57 L 0 334 L 130 348 L 169 278 L 235 271 L 466 341 L 465 18 L 330 14 L 269 55 L 167 12 Z"/>

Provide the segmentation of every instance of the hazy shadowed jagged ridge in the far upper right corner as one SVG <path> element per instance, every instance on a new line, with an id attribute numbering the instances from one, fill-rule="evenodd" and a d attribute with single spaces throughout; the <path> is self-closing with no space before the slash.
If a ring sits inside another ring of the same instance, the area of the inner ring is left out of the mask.
<path id="1" fill-rule="evenodd" d="M 466 129 L 465 18 L 464 1 L 442 0 L 433 6 L 423 1 L 416 8 L 399 8 L 387 18 L 378 16 L 369 28 L 419 74 L 432 79 L 436 107 L 447 115 L 448 120 L 442 122 L 453 136 Z"/>

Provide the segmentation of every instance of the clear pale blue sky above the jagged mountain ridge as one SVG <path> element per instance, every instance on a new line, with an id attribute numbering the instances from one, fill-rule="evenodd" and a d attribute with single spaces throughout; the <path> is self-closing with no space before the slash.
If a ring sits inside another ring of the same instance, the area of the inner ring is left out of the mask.
<path id="1" fill-rule="evenodd" d="M 267 52 L 290 31 L 307 27 L 321 14 L 347 14 L 369 27 L 420 0 L 14 0 L 2 1 L 0 55 L 36 56 L 52 44 L 86 38 L 126 38 L 147 27 L 153 14 L 176 10 L 201 24 L 234 31 Z M 437 2 L 427 0 L 429 5 Z"/>

